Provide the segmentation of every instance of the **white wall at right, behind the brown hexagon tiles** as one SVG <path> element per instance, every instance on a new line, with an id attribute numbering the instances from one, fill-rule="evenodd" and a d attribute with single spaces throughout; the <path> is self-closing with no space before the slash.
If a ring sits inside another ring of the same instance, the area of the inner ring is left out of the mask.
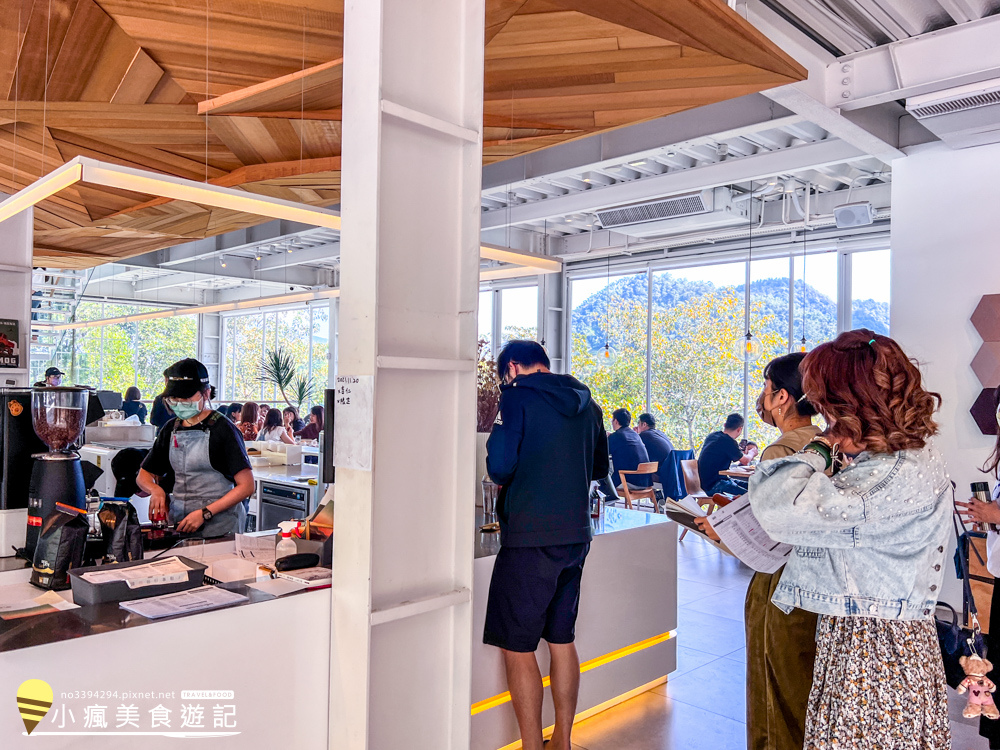
<path id="1" fill-rule="evenodd" d="M 978 467 L 993 445 L 969 414 L 982 390 L 971 367 L 982 339 L 969 318 L 982 295 L 1000 293 L 998 219 L 1000 145 L 928 144 L 893 164 L 892 336 L 944 399 L 938 445 L 960 499 L 985 478 Z M 961 601 L 950 573 L 943 598 Z"/>

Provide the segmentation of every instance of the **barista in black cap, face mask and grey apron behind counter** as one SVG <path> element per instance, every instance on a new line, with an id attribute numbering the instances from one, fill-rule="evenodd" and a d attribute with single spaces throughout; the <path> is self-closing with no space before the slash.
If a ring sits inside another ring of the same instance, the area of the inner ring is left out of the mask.
<path id="1" fill-rule="evenodd" d="M 242 501 L 253 494 L 253 472 L 236 426 L 212 408 L 208 370 L 196 359 L 182 359 L 163 376 L 163 401 L 176 416 L 157 434 L 139 470 L 150 517 L 169 512 L 177 531 L 204 538 L 243 531 Z"/>

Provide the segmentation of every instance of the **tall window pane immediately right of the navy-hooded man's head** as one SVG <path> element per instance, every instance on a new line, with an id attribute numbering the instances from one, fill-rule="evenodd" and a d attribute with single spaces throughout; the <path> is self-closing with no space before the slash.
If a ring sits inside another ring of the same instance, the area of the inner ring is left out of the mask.
<path id="1" fill-rule="evenodd" d="M 573 282 L 573 373 L 590 386 L 609 428 L 615 409 L 645 410 L 647 279 L 639 273 Z"/>

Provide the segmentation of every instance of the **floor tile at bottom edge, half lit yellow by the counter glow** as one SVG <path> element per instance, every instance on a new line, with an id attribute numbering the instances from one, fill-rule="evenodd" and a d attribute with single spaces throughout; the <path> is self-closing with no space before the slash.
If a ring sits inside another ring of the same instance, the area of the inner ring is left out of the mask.
<path id="1" fill-rule="evenodd" d="M 586 750 L 746 750 L 746 728 L 648 692 L 581 722 L 573 741 Z"/>

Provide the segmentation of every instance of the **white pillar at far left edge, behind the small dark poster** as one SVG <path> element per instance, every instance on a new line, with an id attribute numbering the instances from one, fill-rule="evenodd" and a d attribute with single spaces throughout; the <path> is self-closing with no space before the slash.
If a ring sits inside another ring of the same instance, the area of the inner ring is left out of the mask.
<path id="1" fill-rule="evenodd" d="M 30 385 L 31 255 L 34 212 L 28 208 L 0 222 L 0 318 L 20 324 L 21 366 L 0 368 L 0 386 Z"/>

